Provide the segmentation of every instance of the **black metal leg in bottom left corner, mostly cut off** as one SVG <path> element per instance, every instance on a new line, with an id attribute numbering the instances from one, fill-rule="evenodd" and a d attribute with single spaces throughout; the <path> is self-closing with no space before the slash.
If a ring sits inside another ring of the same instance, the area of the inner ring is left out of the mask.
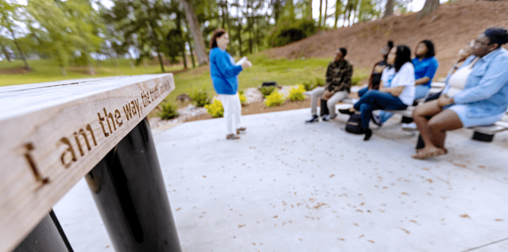
<path id="1" fill-rule="evenodd" d="M 53 210 L 28 234 L 13 252 L 73 252 Z"/>

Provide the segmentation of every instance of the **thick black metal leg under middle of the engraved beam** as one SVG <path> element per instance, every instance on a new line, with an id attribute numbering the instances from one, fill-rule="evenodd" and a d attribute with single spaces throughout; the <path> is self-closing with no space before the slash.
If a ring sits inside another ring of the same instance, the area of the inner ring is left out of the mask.
<path id="1" fill-rule="evenodd" d="M 86 180 L 116 251 L 181 251 L 146 119 Z"/>

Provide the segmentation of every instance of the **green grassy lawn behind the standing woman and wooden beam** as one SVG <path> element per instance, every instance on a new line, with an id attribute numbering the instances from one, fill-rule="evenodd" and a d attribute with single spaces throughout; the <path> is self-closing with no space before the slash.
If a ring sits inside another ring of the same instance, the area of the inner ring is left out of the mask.
<path id="1" fill-rule="evenodd" d="M 316 78 L 325 78 L 326 68 L 332 58 L 306 58 L 306 59 L 270 59 L 268 56 L 259 53 L 248 56 L 253 67 L 245 69 L 239 75 L 239 90 L 248 87 L 260 86 L 264 81 L 275 81 L 278 85 L 296 85 L 303 82 L 315 82 Z M 239 58 L 237 58 L 239 59 Z M 51 60 L 30 60 L 29 66 L 33 71 L 21 73 L 20 68 L 23 62 L 20 60 L 8 62 L 0 61 L 0 71 L 4 74 L 0 75 L 0 86 L 28 84 L 38 82 L 49 82 L 66 79 L 90 78 L 87 67 L 67 67 L 67 76 L 60 74 L 59 67 Z M 17 70 L 12 70 L 17 69 Z M 166 72 L 182 70 L 183 66 L 165 66 Z M 113 60 L 102 61 L 100 65 L 95 66 L 96 76 L 120 76 L 120 75 L 139 75 L 139 74 L 159 74 L 162 73 L 161 68 L 156 62 L 151 62 L 145 68 L 143 64 L 131 68 L 130 62 L 125 59 L 118 60 L 118 67 L 115 66 Z M 17 73 L 20 72 L 20 73 Z M 8 73 L 11 72 L 11 73 Z M 17 74 L 16 74 L 17 73 Z M 353 78 L 359 79 L 360 82 L 365 80 L 370 74 L 370 69 L 355 68 Z M 163 103 L 172 103 L 182 106 L 181 103 L 175 102 L 176 97 L 182 93 L 190 93 L 194 90 L 205 90 L 209 97 L 215 96 L 212 81 L 210 79 L 210 70 L 208 66 L 202 66 L 188 71 L 175 74 L 175 90 L 172 91 Z M 150 113 L 150 117 L 156 113 Z"/>

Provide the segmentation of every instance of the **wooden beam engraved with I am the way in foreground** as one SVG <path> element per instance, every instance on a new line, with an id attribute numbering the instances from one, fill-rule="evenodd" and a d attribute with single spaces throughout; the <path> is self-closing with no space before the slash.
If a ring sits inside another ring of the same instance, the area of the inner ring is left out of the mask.
<path id="1" fill-rule="evenodd" d="M 0 87 L 0 251 L 175 88 L 172 74 Z"/>

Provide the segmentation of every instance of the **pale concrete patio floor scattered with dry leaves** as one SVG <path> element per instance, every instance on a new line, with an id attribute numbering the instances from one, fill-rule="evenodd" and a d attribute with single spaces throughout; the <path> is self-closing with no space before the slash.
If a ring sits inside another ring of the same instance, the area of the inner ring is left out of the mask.
<path id="1" fill-rule="evenodd" d="M 461 129 L 414 160 L 400 117 L 363 136 L 309 109 L 153 130 L 182 251 L 508 251 L 508 133 Z M 86 182 L 54 211 L 75 251 L 114 251 Z"/>

